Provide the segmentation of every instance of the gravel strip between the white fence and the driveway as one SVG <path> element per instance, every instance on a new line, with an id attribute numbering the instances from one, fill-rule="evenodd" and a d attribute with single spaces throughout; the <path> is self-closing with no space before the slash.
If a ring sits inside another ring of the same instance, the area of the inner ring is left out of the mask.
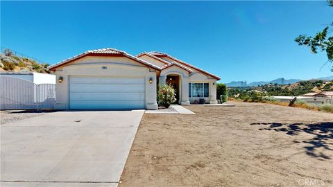
<path id="1" fill-rule="evenodd" d="M 52 111 L 50 111 L 52 112 Z M 39 111 L 33 111 L 33 110 L 7 110 L 7 111 L 1 111 L 0 112 L 0 118 L 1 118 L 1 125 L 4 123 L 10 123 L 15 121 L 20 121 L 26 118 L 31 118 L 35 116 L 40 116 L 44 114 L 48 114 L 50 112 L 39 112 Z"/>

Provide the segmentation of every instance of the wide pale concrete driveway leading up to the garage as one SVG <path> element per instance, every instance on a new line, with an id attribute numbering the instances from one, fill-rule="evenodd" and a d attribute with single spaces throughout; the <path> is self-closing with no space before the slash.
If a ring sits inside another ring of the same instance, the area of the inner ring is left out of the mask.
<path id="1" fill-rule="evenodd" d="M 1 186 L 117 186 L 143 114 L 55 112 L 1 125 Z"/>

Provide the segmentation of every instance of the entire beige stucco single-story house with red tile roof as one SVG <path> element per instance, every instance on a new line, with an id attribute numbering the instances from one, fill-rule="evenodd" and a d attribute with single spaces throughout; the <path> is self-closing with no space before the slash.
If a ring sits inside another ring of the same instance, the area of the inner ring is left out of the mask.
<path id="1" fill-rule="evenodd" d="M 219 77 L 167 53 L 133 56 L 114 48 L 86 51 L 49 67 L 57 76 L 56 109 L 157 109 L 157 87 L 169 83 L 177 102 L 216 103 Z"/>

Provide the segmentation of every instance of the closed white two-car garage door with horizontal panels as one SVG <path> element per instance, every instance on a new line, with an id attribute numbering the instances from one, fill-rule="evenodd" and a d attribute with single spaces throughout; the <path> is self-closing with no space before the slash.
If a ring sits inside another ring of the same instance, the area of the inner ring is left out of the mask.
<path id="1" fill-rule="evenodd" d="M 70 109 L 144 109 L 144 78 L 69 78 Z"/>

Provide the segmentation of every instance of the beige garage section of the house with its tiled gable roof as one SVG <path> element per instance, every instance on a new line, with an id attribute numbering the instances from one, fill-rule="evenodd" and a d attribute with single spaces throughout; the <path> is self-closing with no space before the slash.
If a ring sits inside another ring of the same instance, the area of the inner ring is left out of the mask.
<path id="1" fill-rule="evenodd" d="M 54 109 L 157 109 L 159 66 L 114 48 L 86 51 L 49 67 Z"/>

